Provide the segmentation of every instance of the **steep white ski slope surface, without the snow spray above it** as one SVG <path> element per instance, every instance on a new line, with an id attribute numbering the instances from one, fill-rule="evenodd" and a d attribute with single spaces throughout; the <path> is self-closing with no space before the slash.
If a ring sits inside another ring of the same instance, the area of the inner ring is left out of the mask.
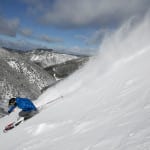
<path id="1" fill-rule="evenodd" d="M 1 134 L 0 146 L 3 150 L 148 149 L 149 57 L 150 49 L 118 62 L 92 82 L 80 80 L 66 91 L 62 87 L 70 84 L 68 80 L 49 89 L 38 103 L 46 103 L 43 100 L 59 94 L 66 96 L 9 133 Z"/>

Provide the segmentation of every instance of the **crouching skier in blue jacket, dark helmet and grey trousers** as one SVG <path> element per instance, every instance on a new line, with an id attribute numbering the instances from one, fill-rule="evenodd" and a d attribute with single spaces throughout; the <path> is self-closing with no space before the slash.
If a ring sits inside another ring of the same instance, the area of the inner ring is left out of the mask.
<path id="1" fill-rule="evenodd" d="M 22 109 L 22 111 L 19 112 L 19 117 L 24 117 L 24 120 L 31 118 L 38 112 L 36 106 L 28 98 L 11 98 L 8 107 L 8 114 L 10 114 L 16 107 Z"/>

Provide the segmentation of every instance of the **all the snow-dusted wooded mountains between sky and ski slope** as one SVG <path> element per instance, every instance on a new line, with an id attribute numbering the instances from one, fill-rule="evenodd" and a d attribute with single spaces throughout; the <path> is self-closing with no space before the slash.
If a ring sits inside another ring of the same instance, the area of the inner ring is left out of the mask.
<path id="1" fill-rule="evenodd" d="M 87 62 L 89 57 L 62 54 L 52 49 L 18 51 L 0 48 L 0 113 L 3 100 L 11 97 L 36 99 Z"/>

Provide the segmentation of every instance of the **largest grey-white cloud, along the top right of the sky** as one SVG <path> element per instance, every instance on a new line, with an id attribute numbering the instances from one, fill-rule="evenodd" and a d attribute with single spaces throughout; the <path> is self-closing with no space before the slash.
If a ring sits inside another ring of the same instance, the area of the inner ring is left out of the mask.
<path id="1" fill-rule="evenodd" d="M 131 16 L 144 15 L 150 8 L 150 1 L 56 0 L 51 7 L 43 11 L 42 23 L 67 28 L 110 26 Z"/>

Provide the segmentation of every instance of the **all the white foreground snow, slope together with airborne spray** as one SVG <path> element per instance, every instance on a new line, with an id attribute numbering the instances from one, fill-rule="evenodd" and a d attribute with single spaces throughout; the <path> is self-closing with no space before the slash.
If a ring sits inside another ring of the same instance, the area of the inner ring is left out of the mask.
<path id="1" fill-rule="evenodd" d="M 41 113 L 8 133 L 19 110 L 2 118 L 1 149 L 149 150 L 149 18 L 106 37 L 96 58 L 38 98 L 53 101 Z"/>

